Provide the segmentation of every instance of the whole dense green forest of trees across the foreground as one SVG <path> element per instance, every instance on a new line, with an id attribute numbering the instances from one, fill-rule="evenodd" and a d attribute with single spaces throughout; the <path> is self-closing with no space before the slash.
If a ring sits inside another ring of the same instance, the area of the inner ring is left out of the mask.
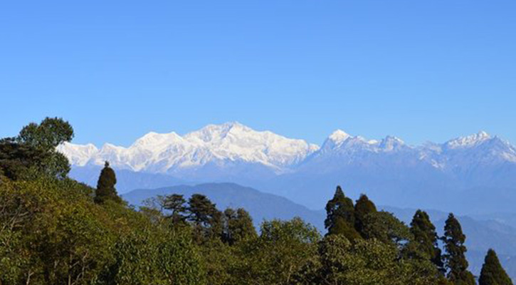
<path id="1" fill-rule="evenodd" d="M 204 195 L 135 209 L 108 162 L 96 188 L 68 177 L 56 147 L 72 138 L 68 122 L 46 118 L 0 140 L 0 285 L 512 284 L 493 250 L 478 278 L 468 271 L 453 214 L 439 237 L 426 212 L 406 225 L 340 187 L 322 234 L 299 218 L 257 230 L 246 209 L 217 209 Z"/>

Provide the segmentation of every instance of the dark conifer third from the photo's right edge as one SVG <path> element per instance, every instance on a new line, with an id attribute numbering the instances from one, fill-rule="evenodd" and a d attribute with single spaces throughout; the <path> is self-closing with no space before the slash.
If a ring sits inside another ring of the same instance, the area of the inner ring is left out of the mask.
<path id="1" fill-rule="evenodd" d="M 430 221 L 430 217 L 424 211 L 418 209 L 410 224 L 410 232 L 414 235 L 414 252 L 411 258 L 429 259 L 437 266 L 439 271 L 444 271 L 441 249 L 438 247 L 438 235 L 436 227 Z"/>

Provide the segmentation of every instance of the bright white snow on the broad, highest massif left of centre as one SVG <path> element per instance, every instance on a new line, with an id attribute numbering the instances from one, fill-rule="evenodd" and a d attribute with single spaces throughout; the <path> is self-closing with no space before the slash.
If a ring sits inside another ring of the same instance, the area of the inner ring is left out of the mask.
<path id="1" fill-rule="evenodd" d="M 145 172 L 174 172 L 224 161 L 265 165 L 282 172 L 318 150 L 305 140 L 285 138 L 269 131 L 256 131 L 240 123 L 207 125 L 201 130 L 180 136 L 177 133 L 148 133 L 130 147 L 105 144 L 65 143 L 58 147 L 72 165 L 102 165 Z"/>

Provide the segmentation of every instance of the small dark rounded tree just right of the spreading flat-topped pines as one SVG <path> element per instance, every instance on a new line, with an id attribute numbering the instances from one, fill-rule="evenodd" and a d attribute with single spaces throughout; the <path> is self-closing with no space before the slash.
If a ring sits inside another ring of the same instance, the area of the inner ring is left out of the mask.
<path id="1" fill-rule="evenodd" d="M 233 245 L 246 239 L 258 237 L 253 226 L 253 218 L 243 208 L 228 208 L 224 211 L 223 242 Z"/>

